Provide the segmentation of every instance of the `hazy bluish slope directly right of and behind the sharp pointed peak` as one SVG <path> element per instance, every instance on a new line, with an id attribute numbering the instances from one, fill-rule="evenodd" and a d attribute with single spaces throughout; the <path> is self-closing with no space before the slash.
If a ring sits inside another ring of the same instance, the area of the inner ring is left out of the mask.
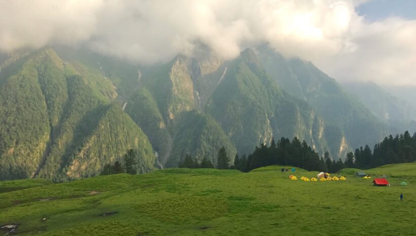
<path id="1" fill-rule="evenodd" d="M 260 60 L 278 85 L 322 115 L 328 131 L 327 140 L 331 140 L 328 144 L 336 158 L 344 158 L 347 150 L 364 143 L 372 145 L 387 135 L 385 124 L 312 63 L 286 60 L 282 55 L 264 49 L 260 52 Z"/>

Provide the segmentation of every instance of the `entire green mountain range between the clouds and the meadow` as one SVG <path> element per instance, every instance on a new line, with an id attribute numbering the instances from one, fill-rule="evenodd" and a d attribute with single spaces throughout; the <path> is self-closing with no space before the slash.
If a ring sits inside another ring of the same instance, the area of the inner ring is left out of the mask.
<path id="1" fill-rule="evenodd" d="M 338 160 L 388 135 L 335 80 L 275 53 L 178 55 L 153 66 L 65 48 L 2 58 L 1 179 L 94 176 L 128 149 L 139 173 L 187 154 L 216 163 L 222 146 L 232 164 L 272 137 L 297 137 Z"/>

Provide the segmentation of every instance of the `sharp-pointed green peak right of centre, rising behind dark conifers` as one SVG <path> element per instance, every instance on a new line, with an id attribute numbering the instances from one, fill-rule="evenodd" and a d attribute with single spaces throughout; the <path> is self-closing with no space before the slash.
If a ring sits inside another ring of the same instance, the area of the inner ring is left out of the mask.
<path id="1" fill-rule="evenodd" d="M 282 93 L 252 50 L 226 66 L 227 73 L 205 110 L 221 124 L 239 153 L 250 153 L 273 136 L 297 136 L 320 152 L 327 148 L 322 119 L 306 103 Z"/>

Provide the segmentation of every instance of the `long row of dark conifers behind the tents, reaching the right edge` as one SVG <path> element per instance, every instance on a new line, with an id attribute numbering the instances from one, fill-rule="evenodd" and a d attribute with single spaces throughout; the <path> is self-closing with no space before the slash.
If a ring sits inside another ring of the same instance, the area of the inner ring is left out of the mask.
<path id="1" fill-rule="evenodd" d="M 253 153 L 242 158 L 235 155 L 234 163 L 228 166 L 230 158 L 227 156 L 225 148 L 222 147 L 217 156 L 218 169 L 237 169 L 248 172 L 253 169 L 269 166 L 283 165 L 303 168 L 307 171 L 325 171 L 335 173 L 343 168 L 369 169 L 386 164 L 408 163 L 416 161 L 416 133 L 410 136 L 406 131 L 404 134 L 386 137 L 382 142 L 375 144 L 374 152 L 366 145 L 360 147 L 355 152 L 346 154 L 345 162 L 341 159 L 332 160 L 328 151 L 320 157 L 313 148 L 304 140 L 300 142 L 298 138 L 290 141 L 281 138 L 278 142 L 271 140 L 269 145 L 260 144 Z M 226 165 L 224 165 L 224 162 Z M 180 168 L 213 168 L 214 165 L 207 159 L 201 163 L 192 159 L 189 154 L 180 163 Z"/>

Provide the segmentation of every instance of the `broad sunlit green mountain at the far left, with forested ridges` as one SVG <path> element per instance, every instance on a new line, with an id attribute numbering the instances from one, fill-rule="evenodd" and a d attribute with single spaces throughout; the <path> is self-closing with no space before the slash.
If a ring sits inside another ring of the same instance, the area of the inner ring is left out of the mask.
<path id="1" fill-rule="evenodd" d="M 101 168 L 97 165 L 81 168 L 87 169 L 84 172 L 77 168 L 66 172 L 81 151 L 87 154 L 78 157 L 88 156 L 107 164 L 120 160 L 126 148 L 143 148 L 146 151 L 142 151 L 139 168 L 153 168 L 154 154 L 146 135 L 131 128 L 134 123 L 125 114 L 114 116 L 115 124 L 108 130 L 113 132 L 111 138 L 101 139 L 108 142 L 107 150 L 97 147 L 106 143 L 88 141 L 95 132 L 102 133 L 94 127 L 114 112 L 109 106 L 117 93 L 111 81 L 82 63 L 64 62 L 53 49 L 46 48 L 5 62 L 0 82 L 1 179 L 43 176 L 64 180 L 96 175 Z M 128 126 L 133 133 L 126 134 Z M 132 142 L 133 136 L 142 142 Z M 114 144 L 119 139 L 130 142 Z M 93 149 L 108 153 L 101 156 L 102 152 L 89 151 Z M 85 161 L 79 159 L 78 163 L 86 166 Z"/>

